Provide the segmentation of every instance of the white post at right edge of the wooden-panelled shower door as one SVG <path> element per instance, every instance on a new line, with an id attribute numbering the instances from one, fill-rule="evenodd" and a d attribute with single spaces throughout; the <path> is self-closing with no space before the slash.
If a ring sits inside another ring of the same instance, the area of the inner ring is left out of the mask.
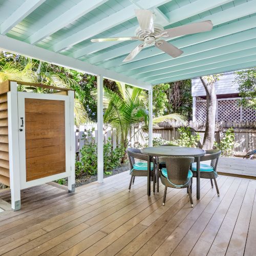
<path id="1" fill-rule="evenodd" d="M 69 192 L 75 191 L 75 131 L 74 131 L 74 91 L 68 91 L 68 96 L 70 97 L 70 169 L 71 175 L 68 177 L 68 189 Z"/>

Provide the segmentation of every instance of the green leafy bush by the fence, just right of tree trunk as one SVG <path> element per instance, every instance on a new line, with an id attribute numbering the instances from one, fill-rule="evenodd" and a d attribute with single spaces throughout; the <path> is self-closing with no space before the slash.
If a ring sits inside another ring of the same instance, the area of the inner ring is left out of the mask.
<path id="1" fill-rule="evenodd" d="M 231 127 L 227 130 L 224 138 L 221 139 L 220 143 L 215 141 L 214 146 L 221 150 L 223 157 L 232 157 L 235 144 L 236 142 L 234 141 L 234 129 Z"/>

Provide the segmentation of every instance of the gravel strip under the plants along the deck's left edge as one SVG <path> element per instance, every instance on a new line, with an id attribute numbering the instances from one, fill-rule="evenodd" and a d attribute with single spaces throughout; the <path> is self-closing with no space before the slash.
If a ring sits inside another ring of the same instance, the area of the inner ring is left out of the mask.
<path id="1" fill-rule="evenodd" d="M 130 169 L 129 163 L 124 163 L 121 166 L 113 169 L 111 175 L 104 175 L 104 178 L 126 172 L 126 170 L 129 170 L 129 169 Z M 66 180 L 66 182 L 63 185 L 67 186 L 68 178 L 65 180 Z M 91 183 L 94 181 L 97 181 L 97 175 L 81 175 L 80 177 L 76 178 L 76 187 L 79 187 L 79 186 L 82 186 L 84 184 L 88 184 L 88 183 Z"/>

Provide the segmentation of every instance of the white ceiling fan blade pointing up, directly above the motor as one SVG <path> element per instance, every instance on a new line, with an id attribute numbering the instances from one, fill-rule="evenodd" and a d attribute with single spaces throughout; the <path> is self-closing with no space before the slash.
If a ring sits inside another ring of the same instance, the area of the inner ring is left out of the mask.
<path id="1" fill-rule="evenodd" d="M 148 33 L 154 33 L 154 19 L 152 11 L 136 9 L 135 14 L 141 30 L 144 30 Z"/>

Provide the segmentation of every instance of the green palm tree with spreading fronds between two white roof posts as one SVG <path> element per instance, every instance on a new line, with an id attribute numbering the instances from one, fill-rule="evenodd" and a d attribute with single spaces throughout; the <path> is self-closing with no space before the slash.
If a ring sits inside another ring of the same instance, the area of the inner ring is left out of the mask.
<path id="1" fill-rule="evenodd" d="M 132 125 L 144 122 L 145 129 L 148 126 L 148 97 L 145 91 L 140 88 L 125 86 L 124 83 L 120 82 L 116 82 L 116 84 L 116 92 L 104 88 L 103 121 L 117 130 L 117 133 L 121 136 L 121 143 L 126 148 L 130 142 L 127 138 Z M 153 122 L 167 120 L 184 122 L 184 117 L 179 114 L 170 114 L 154 118 Z M 139 130 L 138 133 L 143 136 L 142 130 Z"/>

